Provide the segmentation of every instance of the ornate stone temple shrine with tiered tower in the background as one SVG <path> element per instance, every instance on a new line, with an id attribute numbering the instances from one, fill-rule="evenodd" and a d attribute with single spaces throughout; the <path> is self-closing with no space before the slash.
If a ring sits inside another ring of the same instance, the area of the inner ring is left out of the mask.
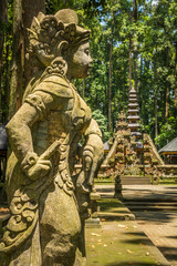
<path id="1" fill-rule="evenodd" d="M 135 89 L 129 91 L 128 115 L 124 111 L 117 117 L 110 151 L 102 164 L 102 173 L 115 178 L 115 191 L 121 194 L 122 184 L 158 183 L 166 165 L 153 140 L 140 132 L 140 117 Z"/>

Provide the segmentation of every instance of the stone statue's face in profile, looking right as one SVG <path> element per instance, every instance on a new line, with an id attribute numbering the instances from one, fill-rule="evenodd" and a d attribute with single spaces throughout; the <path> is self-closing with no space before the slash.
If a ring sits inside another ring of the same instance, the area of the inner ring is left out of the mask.
<path id="1" fill-rule="evenodd" d="M 80 47 L 74 48 L 67 59 L 67 78 L 83 79 L 88 75 L 91 63 L 93 62 L 90 54 L 90 43 L 84 42 Z"/>

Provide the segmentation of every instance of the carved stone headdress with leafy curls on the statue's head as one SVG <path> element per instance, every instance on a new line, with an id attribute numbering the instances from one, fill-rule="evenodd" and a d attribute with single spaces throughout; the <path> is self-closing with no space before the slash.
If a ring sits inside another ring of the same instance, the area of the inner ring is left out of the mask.
<path id="1" fill-rule="evenodd" d="M 62 9 L 54 16 L 40 12 L 29 29 L 30 50 L 48 66 L 63 50 L 88 40 L 90 31 L 77 23 L 77 14 L 71 9 Z"/>

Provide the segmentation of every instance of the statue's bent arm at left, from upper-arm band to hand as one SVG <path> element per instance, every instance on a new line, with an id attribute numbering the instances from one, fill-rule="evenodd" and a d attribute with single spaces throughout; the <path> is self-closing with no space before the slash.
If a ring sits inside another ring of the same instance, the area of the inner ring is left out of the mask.
<path id="1" fill-rule="evenodd" d="M 62 102 L 58 98 L 58 105 Z M 37 92 L 24 101 L 23 105 L 7 124 L 7 133 L 11 150 L 15 154 L 21 168 L 31 180 L 45 175 L 50 167 L 49 160 L 40 160 L 34 153 L 31 129 L 34 123 L 43 120 L 53 106 L 54 99 L 45 92 Z"/>

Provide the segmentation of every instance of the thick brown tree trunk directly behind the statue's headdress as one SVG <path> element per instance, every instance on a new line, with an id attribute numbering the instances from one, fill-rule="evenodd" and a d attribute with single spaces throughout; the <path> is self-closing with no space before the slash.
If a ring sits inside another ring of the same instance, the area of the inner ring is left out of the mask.
<path id="1" fill-rule="evenodd" d="M 63 2 L 64 3 L 64 2 Z M 39 12 L 45 13 L 45 1 L 44 0 L 23 0 L 23 28 L 24 28 L 24 86 L 29 83 L 33 76 L 33 63 L 30 54 L 28 53 L 29 41 L 28 31 L 30 29 L 32 20 L 38 17 Z"/>

